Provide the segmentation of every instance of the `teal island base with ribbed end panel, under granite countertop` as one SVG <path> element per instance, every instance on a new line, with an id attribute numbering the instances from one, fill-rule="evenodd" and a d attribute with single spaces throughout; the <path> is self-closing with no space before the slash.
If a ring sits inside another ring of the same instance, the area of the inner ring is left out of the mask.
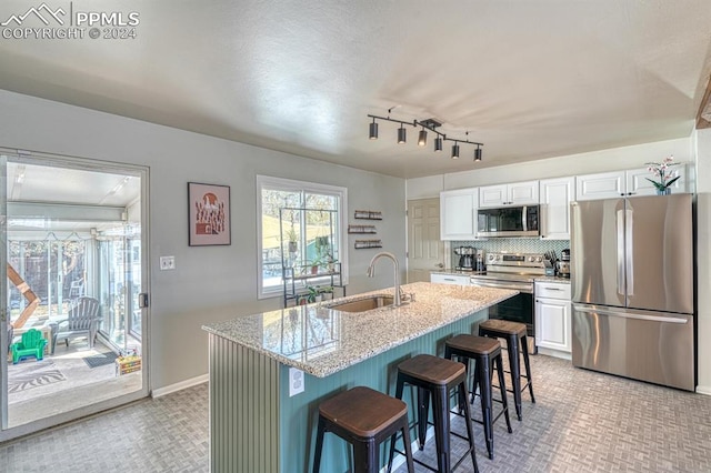
<path id="1" fill-rule="evenodd" d="M 289 396 L 290 366 L 210 333 L 211 471 L 310 472 L 319 403 L 356 385 L 393 395 L 400 362 L 419 353 L 441 356 L 448 338 L 478 333 L 478 324 L 487 319 L 483 309 L 326 378 L 304 373 L 304 391 L 293 396 Z M 407 392 L 404 401 L 412 407 Z M 413 440 L 414 435 L 413 430 Z M 381 464 L 387 462 L 383 452 Z M 327 434 L 321 471 L 348 472 L 350 459 L 350 445 Z"/>

